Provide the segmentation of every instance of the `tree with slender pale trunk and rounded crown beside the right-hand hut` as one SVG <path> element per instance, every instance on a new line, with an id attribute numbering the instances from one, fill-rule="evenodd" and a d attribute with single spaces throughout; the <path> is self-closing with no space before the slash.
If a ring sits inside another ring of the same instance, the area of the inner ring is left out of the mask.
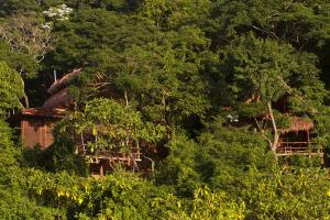
<path id="1" fill-rule="evenodd" d="M 323 84 L 318 79 L 319 70 L 312 55 L 300 54 L 289 44 L 249 34 L 232 41 L 223 55 L 223 68 L 235 100 L 266 103 L 274 132 L 273 140 L 268 141 L 274 153 L 279 133 L 272 101 L 287 94 L 292 97 L 292 110 L 306 113 L 308 110 L 317 111 L 327 95 Z"/>

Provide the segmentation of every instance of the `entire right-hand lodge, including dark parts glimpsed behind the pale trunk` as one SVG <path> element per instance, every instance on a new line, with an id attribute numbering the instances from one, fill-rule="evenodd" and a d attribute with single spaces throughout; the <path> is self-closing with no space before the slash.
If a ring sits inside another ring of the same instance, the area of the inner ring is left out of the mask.
<path id="1" fill-rule="evenodd" d="M 326 154 L 323 147 L 316 145 L 312 142 L 314 139 L 314 128 L 315 124 L 312 121 L 307 120 L 301 117 L 293 116 L 287 109 L 287 98 L 284 96 L 279 99 L 278 102 L 272 103 L 273 108 L 279 111 L 285 118 L 288 119 L 288 125 L 285 129 L 277 129 L 278 141 L 275 148 L 275 154 L 277 157 L 289 157 L 294 155 L 301 155 L 308 157 L 319 157 L 320 162 L 324 164 Z M 245 103 L 250 105 L 250 102 Z M 228 112 L 227 119 L 234 127 L 245 127 L 252 125 L 253 130 L 265 130 L 272 128 L 272 119 L 270 113 L 265 113 L 258 117 L 258 120 L 262 121 L 263 128 L 257 122 L 256 119 L 252 120 L 251 118 L 238 119 L 238 116 L 232 116 L 231 112 L 233 109 L 231 107 L 224 107 L 223 111 Z M 264 131 L 261 131 L 262 133 Z M 268 140 L 272 142 L 272 140 Z"/>

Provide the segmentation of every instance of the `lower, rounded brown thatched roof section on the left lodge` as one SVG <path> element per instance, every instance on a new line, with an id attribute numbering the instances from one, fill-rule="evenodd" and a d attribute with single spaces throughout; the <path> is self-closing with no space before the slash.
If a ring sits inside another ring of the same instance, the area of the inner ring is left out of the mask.
<path id="1" fill-rule="evenodd" d="M 44 109 L 52 108 L 70 108 L 74 105 L 74 100 L 67 92 L 67 89 L 62 89 L 51 96 L 43 105 Z"/>

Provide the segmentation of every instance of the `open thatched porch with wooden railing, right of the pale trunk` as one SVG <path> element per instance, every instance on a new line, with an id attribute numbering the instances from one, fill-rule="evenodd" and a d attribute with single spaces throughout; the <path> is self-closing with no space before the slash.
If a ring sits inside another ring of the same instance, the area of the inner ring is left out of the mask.
<path id="1" fill-rule="evenodd" d="M 323 161 L 323 150 L 314 145 L 310 132 L 314 128 L 311 121 L 292 117 L 290 125 L 279 130 L 279 140 L 276 147 L 277 156 L 305 155 L 319 156 Z"/>

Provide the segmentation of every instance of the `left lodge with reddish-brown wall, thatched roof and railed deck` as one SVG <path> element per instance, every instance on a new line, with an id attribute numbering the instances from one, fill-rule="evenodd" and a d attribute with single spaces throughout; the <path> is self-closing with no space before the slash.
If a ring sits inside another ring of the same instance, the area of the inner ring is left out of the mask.
<path id="1" fill-rule="evenodd" d="M 41 108 L 24 109 L 21 116 L 21 136 L 25 147 L 38 145 L 47 148 L 54 142 L 53 128 L 55 122 L 63 119 L 75 103 L 67 91 L 68 84 L 75 79 L 81 69 L 75 69 L 56 80 L 47 90 L 51 97 Z M 134 146 L 129 153 L 118 151 L 97 151 L 92 154 L 85 147 L 79 135 L 75 138 L 77 153 L 86 158 L 91 175 L 105 175 L 116 164 L 123 164 L 134 170 L 139 169 L 141 160 L 140 147 Z"/>

